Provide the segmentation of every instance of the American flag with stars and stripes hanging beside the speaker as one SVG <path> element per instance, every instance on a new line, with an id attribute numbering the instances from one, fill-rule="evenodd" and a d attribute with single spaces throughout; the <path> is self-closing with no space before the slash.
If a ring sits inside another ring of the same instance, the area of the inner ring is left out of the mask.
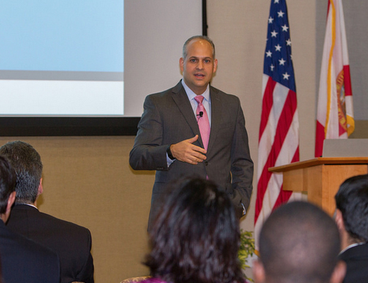
<path id="1" fill-rule="evenodd" d="M 263 221 L 273 209 L 292 196 L 292 192 L 282 190 L 282 175 L 270 173 L 268 168 L 295 161 L 299 161 L 299 121 L 292 41 L 286 1 L 272 0 L 263 67 L 262 116 L 258 141 L 256 248 Z"/>

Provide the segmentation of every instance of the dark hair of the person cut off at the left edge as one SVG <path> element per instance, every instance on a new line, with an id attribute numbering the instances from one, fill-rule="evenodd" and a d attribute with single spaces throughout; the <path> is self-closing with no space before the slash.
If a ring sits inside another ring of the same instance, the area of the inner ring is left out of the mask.
<path id="1" fill-rule="evenodd" d="M 0 214 L 6 212 L 8 198 L 16 187 L 16 172 L 11 163 L 0 155 Z"/>

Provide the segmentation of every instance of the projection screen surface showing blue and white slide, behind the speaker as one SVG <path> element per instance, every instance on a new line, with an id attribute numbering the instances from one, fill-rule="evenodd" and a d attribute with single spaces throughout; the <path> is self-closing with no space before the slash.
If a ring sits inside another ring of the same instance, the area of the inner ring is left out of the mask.
<path id="1" fill-rule="evenodd" d="M 0 117 L 140 117 L 201 33 L 201 0 L 1 1 Z"/>

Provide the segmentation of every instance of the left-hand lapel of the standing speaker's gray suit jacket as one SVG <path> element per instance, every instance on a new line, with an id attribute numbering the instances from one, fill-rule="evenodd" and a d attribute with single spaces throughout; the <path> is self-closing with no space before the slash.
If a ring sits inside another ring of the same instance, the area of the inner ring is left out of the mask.
<path id="1" fill-rule="evenodd" d="M 188 125 L 192 129 L 194 135 L 197 134 L 198 137 L 200 137 L 200 128 L 195 120 L 192 105 L 190 105 L 190 101 L 188 100 L 187 93 L 185 93 L 185 89 L 181 84 L 181 81 L 173 88 L 172 98 L 182 115 L 185 117 L 185 120 L 188 122 Z M 203 147 L 202 139 L 200 138 L 198 141 L 200 142 L 200 146 Z"/>

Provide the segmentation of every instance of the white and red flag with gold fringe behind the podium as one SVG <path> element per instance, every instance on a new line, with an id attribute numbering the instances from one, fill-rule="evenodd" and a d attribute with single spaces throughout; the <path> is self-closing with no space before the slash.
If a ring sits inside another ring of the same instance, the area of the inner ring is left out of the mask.
<path id="1" fill-rule="evenodd" d="M 324 139 L 347 139 L 354 127 L 343 3 L 329 0 L 318 91 L 315 156 L 322 155 Z"/>

